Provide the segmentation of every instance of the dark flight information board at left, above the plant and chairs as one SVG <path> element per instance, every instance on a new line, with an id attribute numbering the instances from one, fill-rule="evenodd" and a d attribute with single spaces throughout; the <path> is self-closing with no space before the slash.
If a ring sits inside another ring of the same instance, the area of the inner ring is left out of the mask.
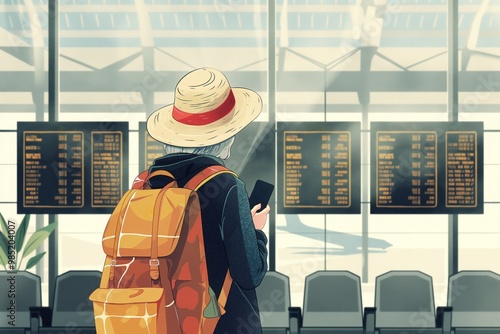
<path id="1" fill-rule="evenodd" d="M 128 188 L 127 122 L 18 122 L 18 213 L 110 213 Z"/>

